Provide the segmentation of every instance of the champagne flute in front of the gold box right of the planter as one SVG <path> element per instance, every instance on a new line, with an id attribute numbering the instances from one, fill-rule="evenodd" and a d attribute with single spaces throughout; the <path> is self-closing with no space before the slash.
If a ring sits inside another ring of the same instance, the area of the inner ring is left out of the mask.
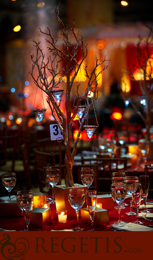
<path id="1" fill-rule="evenodd" d="M 94 203 L 93 203 L 94 201 Z M 91 230 L 88 231 L 95 231 L 93 228 L 93 219 L 95 216 L 95 210 L 96 210 L 96 203 L 97 203 L 97 192 L 96 190 L 88 190 L 86 191 L 86 202 L 87 202 L 87 208 L 89 211 L 89 216 L 91 219 Z"/>

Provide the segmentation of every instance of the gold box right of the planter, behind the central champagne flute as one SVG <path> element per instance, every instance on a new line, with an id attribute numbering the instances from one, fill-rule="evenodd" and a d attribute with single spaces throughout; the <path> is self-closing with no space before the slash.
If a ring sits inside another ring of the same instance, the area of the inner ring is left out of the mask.
<path id="1" fill-rule="evenodd" d="M 91 226 L 88 208 L 81 208 L 81 223 Z M 96 207 L 93 226 L 106 226 L 109 224 L 108 210 Z"/>

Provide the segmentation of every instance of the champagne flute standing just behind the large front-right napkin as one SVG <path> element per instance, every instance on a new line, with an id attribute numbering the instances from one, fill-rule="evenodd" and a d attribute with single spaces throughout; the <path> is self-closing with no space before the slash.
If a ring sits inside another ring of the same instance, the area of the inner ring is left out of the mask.
<path id="1" fill-rule="evenodd" d="M 141 197 L 142 197 L 141 183 L 136 183 L 136 185 L 131 184 L 131 192 L 132 192 L 133 205 L 134 205 L 135 211 L 137 213 L 137 220 L 133 221 L 133 223 L 143 224 L 144 222 L 141 222 L 141 221 L 138 220 L 139 207 L 140 207 Z"/>

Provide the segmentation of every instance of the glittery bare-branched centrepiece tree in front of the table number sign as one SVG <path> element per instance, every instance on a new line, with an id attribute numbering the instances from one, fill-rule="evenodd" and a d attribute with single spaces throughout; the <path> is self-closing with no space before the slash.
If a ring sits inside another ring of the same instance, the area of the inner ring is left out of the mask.
<path id="1" fill-rule="evenodd" d="M 55 9 L 55 12 L 57 15 L 57 17 L 56 17 L 57 21 L 60 24 L 61 35 L 64 38 L 63 47 L 62 47 L 62 49 L 58 48 L 58 44 L 56 44 L 56 41 L 54 41 L 53 37 L 51 36 L 49 28 L 47 28 L 48 33 L 45 33 L 43 31 L 41 31 L 41 29 L 40 29 L 42 34 L 45 34 L 46 36 L 49 37 L 49 39 L 46 39 L 46 40 L 50 44 L 50 47 L 48 47 L 48 49 L 53 58 L 51 58 L 51 55 L 50 55 L 48 57 L 47 63 L 45 64 L 43 51 L 39 47 L 40 42 L 37 43 L 34 39 L 32 39 L 32 42 L 34 43 L 34 46 L 36 47 L 36 57 L 34 58 L 34 54 L 30 53 L 31 59 L 33 62 L 32 71 L 30 74 L 31 74 L 36 86 L 39 87 L 42 91 L 44 91 L 47 94 L 46 100 L 51 109 L 52 116 L 56 120 L 58 127 L 60 128 L 60 130 L 62 132 L 62 135 L 64 138 L 64 146 L 66 148 L 66 154 L 65 154 L 65 165 L 66 165 L 66 171 L 67 171 L 66 187 L 73 187 L 74 182 L 73 182 L 73 178 L 72 178 L 72 165 L 73 165 L 73 161 L 74 161 L 74 156 L 76 155 L 76 148 L 77 148 L 77 144 L 80 139 L 81 129 L 83 127 L 83 123 L 87 117 L 87 114 L 88 114 L 91 106 L 93 105 L 93 102 L 95 102 L 98 97 L 98 89 L 97 89 L 98 79 L 97 79 L 97 77 L 100 73 L 102 73 L 103 70 L 105 70 L 107 68 L 107 66 L 104 66 L 104 68 L 99 73 L 96 74 L 97 67 L 106 61 L 105 58 L 103 61 L 100 61 L 97 59 L 97 57 L 95 57 L 95 68 L 92 70 L 90 75 L 87 72 L 87 65 L 84 66 L 84 69 L 86 72 L 86 77 L 88 78 L 87 88 L 85 90 L 85 93 L 83 95 L 80 95 L 79 91 L 78 91 L 80 85 L 77 84 L 77 87 L 76 87 L 77 104 L 74 109 L 73 115 L 71 116 L 71 105 L 70 105 L 71 88 L 72 88 L 74 79 L 81 68 L 83 61 L 87 57 L 87 46 L 85 46 L 85 47 L 83 46 L 83 36 L 79 37 L 79 33 L 78 33 L 78 35 L 76 35 L 74 33 L 74 27 L 75 27 L 74 21 L 72 21 L 72 27 L 70 27 L 70 25 L 64 25 L 64 23 L 61 21 L 61 19 L 59 18 L 59 7 L 60 7 L 60 4 L 58 5 L 58 8 Z M 68 38 L 68 31 L 71 31 L 71 33 L 73 34 L 73 36 L 75 38 L 75 43 L 70 42 L 70 40 Z M 76 54 L 77 54 L 77 51 L 78 51 L 78 48 L 80 45 L 81 45 L 81 52 L 82 52 L 82 60 L 80 63 L 78 63 L 76 60 Z M 73 48 L 72 51 L 70 51 L 70 47 Z M 54 65 L 55 60 L 57 62 L 56 66 Z M 60 68 L 61 61 L 66 62 L 65 68 L 62 68 L 62 69 Z M 70 80 L 70 69 L 72 68 L 72 62 L 74 64 L 74 66 L 73 66 L 74 75 L 73 75 L 72 79 Z M 34 73 L 33 73 L 35 67 L 37 67 L 37 70 L 38 70 L 37 78 L 34 77 Z M 54 100 L 54 98 L 51 94 L 51 90 L 53 90 L 53 88 L 59 88 L 58 85 L 60 83 L 64 82 L 64 79 L 61 76 L 61 72 L 65 73 L 66 78 L 67 78 L 66 79 L 66 81 L 67 81 L 66 82 L 66 91 L 64 93 L 66 95 L 66 101 L 65 101 L 66 116 L 60 110 L 61 101 L 60 101 L 59 105 L 57 105 L 57 102 Z M 51 74 L 52 78 L 48 82 L 47 76 L 50 76 L 50 74 Z M 55 80 L 55 77 L 57 75 L 60 76 L 58 79 L 58 82 Z M 95 86 L 93 86 L 93 82 L 95 82 Z M 91 104 L 88 103 L 89 109 L 85 110 L 85 114 L 84 114 L 83 118 L 81 120 L 79 120 L 80 127 L 79 127 L 79 131 L 78 131 L 76 140 L 74 141 L 74 145 L 73 145 L 73 149 L 72 149 L 72 144 L 73 144 L 72 122 L 77 114 L 80 101 L 82 99 L 87 99 L 87 95 L 91 91 L 94 92 L 93 100 L 92 100 Z M 57 116 L 55 115 L 55 112 L 56 112 Z M 62 122 L 62 126 L 60 125 L 60 122 Z M 71 149 L 72 149 L 72 152 L 71 152 Z"/>

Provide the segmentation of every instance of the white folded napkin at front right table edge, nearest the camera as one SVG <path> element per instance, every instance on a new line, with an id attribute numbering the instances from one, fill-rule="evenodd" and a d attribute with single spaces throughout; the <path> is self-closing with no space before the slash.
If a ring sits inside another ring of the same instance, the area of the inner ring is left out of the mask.
<path id="1" fill-rule="evenodd" d="M 117 224 L 110 225 L 114 231 L 153 231 L 153 228 L 148 226 L 142 226 L 134 223 L 120 222 Z"/>

